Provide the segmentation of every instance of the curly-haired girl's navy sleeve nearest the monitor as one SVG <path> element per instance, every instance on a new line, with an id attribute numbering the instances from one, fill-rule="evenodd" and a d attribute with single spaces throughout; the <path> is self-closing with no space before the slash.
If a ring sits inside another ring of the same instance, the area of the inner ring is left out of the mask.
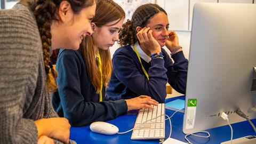
<path id="1" fill-rule="evenodd" d="M 166 52 L 165 52 L 166 53 Z M 165 67 L 167 68 L 168 83 L 176 91 L 185 94 L 188 73 L 188 60 L 184 57 L 182 51 L 172 55 L 174 63 L 166 53 Z"/>

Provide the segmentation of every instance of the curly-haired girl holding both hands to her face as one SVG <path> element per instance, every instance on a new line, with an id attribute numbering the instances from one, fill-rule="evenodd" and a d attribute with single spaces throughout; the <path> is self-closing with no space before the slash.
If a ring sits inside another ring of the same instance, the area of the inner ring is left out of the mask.
<path id="1" fill-rule="evenodd" d="M 175 31 L 168 30 L 166 12 L 157 4 L 141 5 L 119 33 L 119 47 L 113 55 L 113 75 L 107 97 L 130 99 L 149 95 L 163 103 L 167 82 L 185 93 L 188 60 Z M 172 62 L 166 51 L 171 51 Z"/>

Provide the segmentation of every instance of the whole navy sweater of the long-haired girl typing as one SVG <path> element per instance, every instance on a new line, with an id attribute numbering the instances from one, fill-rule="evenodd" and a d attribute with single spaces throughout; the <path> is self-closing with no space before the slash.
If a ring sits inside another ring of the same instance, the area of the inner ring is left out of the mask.
<path id="1" fill-rule="evenodd" d="M 99 102 L 99 94 L 90 82 L 80 50 L 60 50 L 56 68 L 58 92 L 52 93 L 53 107 L 72 126 L 107 121 L 126 113 L 127 105 L 123 99 Z M 103 96 L 105 91 L 103 87 Z"/>

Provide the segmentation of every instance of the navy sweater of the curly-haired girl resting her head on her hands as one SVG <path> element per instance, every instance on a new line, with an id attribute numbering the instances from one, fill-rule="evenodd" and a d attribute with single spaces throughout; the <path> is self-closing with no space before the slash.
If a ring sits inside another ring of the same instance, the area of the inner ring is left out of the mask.
<path id="1" fill-rule="evenodd" d="M 113 55 L 113 74 L 111 75 L 107 97 L 130 99 L 139 95 L 149 95 L 163 103 L 166 97 L 167 82 L 178 92 L 185 94 L 188 60 L 183 52 L 169 55 L 162 49 L 164 59 L 152 59 L 149 63 L 141 58 L 149 81 L 141 68 L 139 59 L 130 45 L 119 47 Z"/>

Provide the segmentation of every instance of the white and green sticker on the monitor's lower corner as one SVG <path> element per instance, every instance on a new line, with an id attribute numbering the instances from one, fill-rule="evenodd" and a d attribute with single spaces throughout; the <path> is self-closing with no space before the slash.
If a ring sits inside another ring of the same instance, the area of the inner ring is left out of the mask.
<path id="1" fill-rule="evenodd" d="M 196 118 L 197 99 L 188 99 L 186 129 L 193 129 Z"/>

